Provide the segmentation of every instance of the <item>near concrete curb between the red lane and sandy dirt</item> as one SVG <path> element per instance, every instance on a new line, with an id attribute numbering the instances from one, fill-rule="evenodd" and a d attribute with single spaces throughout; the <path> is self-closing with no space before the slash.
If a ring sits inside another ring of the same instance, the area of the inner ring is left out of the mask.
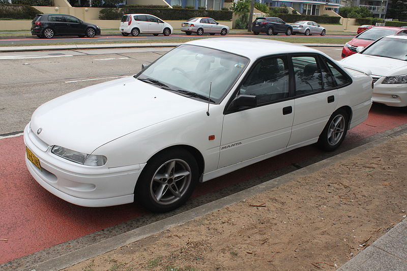
<path id="1" fill-rule="evenodd" d="M 404 126 L 403 126 L 404 127 Z M 119 247 L 125 246 L 127 244 L 136 242 L 137 240 L 140 240 L 142 238 L 157 234 L 159 232 L 162 232 L 166 229 L 169 229 L 172 226 L 177 226 L 181 225 L 185 222 L 188 222 L 190 220 L 193 220 L 195 218 L 205 216 L 207 214 L 213 213 L 216 210 L 219 210 L 221 208 L 224 208 L 226 206 L 229 206 L 231 204 L 237 203 L 239 201 L 242 201 L 246 198 L 255 196 L 259 193 L 268 191 L 272 188 L 275 188 L 277 186 L 280 186 L 282 184 L 285 184 L 289 182 L 290 180 L 296 179 L 298 177 L 304 176 L 311 174 L 313 172 L 316 172 L 318 170 L 321 170 L 322 168 L 325 168 L 327 166 L 330 166 L 334 163 L 337 163 L 343 159 L 347 159 L 350 156 L 357 155 L 361 152 L 364 152 L 365 150 L 368 150 L 372 147 L 381 145 L 385 142 L 388 141 L 390 137 L 397 137 L 403 133 L 405 133 L 407 128 L 402 128 L 396 132 L 394 132 L 391 135 L 387 135 L 383 138 L 377 139 L 375 141 L 366 143 L 362 146 L 356 147 L 354 149 L 348 150 L 347 152 L 341 153 L 339 155 L 336 155 L 334 157 L 325 159 L 323 161 L 317 162 L 315 164 L 312 164 L 310 166 L 301 168 L 299 170 L 296 170 L 294 172 L 288 173 L 286 175 L 277 177 L 275 179 L 271 179 L 268 182 L 265 182 L 263 184 L 254 186 L 252 188 L 249 188 L 247 190 L 241 191 L 239 193 L 227 196 L 225 198 L 213 201 L 211 203 L 207 203 L 205 205 L 187 210 L 186 212 L 182 214 L 178 214 L 175 216 L 172 216 L 170 218 L 166 218 L 164 220 L 142 226 L 140 228 L 131 230 L 129 232 L 120 234 L 118 236 L 103 240 L 99 243 L 90 245 L 88 247 L 81 248 L 79 250 L 67 253 L 65 255 L 44 261 L 39 264 L 35 264 L 34 266 L 31 266 L 29 268 L 23 269 L 24 271 L 31 271 L 33 269 L 36 269 L 37 271 L 40 270 L 60 270 L 69 266 L 72 266 L 76 263 L 79 263 L 81 261 L 90 259 L 92 257 L 101 255 L 103 253 L 112 251 L 114 249 L 117 249 Z M 378 239 L 377 241 L 379 241 Z M 376 242 L 377 242 L 376 241 Z"/>

